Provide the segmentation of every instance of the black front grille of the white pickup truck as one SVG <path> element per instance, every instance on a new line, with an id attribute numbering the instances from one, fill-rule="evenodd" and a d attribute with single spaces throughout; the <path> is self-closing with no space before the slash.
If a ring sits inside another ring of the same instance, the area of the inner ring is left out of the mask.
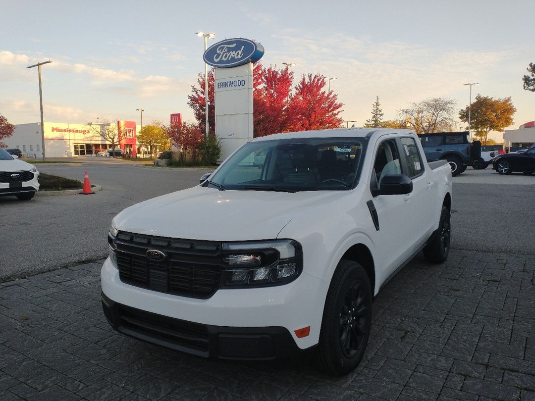
<path id="1" fill-rule="evenodd" d="M 209 298 L 219 288 L 223 255 L 221 244 L 208 241 L 173 240 L 156 236 L 120 232 L 109 237 L 117 248 L 121 281 L 132 286 L 194 298 Z M 147 251 L 165 253 L 154 261 Z"/>

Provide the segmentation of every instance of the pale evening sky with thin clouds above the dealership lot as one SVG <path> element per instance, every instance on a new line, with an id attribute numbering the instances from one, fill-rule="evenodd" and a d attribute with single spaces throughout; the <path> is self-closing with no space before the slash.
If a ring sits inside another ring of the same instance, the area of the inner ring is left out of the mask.
<path id="1" fill-rule="evenodd" d="M 12 124 L 86 124 L 99 117 L 194 121 L 187 105 L 204 72 L 204 40 L 260 42 L 264 66 L 337 78 L 341 117 L 362 126 L 379 96 L 384 119 L 430 97 L 456 109 L 477 94 L 511 97 L 516 129 L 535 120 L 535 93 L 522 87 L 535 63 L 533 0 L 101 1 L 0 0 L 0 114 Z M 455 113 L 454 118 L 458 120 Z M 465 123 L 459 121 L 464 129 Z M 501 133 L 493 135 L 501 141 Z M 491 135 L 492 136 L 492 135 Z"/>

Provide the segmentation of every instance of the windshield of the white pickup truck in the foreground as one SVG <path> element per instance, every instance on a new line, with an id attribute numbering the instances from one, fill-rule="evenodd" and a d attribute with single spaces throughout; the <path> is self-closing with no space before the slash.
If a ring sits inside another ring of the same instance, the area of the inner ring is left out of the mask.
<path id="1" fill-rule="evenodd" d="M 205 186 L 234 190 L 318 191 L 354 188 L 366 138 L 288 138 L 242 146 Z"/>

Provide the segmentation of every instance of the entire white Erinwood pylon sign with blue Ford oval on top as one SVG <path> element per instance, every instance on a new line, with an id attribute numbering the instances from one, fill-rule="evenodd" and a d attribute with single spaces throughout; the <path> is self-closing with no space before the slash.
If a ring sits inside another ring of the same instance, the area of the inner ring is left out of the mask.
<path id="1" fill-rule="evenodd" d="M 226 39 L 204 52 L 205 63 L 216 67 L 216 136 L 221 158 L 253 139 L 253 63 L 264 55 L 261 44 L 248 39 Z"/>

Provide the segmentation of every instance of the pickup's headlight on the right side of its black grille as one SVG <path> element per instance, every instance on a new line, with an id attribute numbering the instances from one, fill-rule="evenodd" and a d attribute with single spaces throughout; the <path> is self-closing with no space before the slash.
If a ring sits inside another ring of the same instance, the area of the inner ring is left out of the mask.
<path id="1" fill-rule="evenodd" d="M 223 250 L 221 288 L 280 286 L 302 271 L 301 245 L 293 240 L 231 242 Z"/>

